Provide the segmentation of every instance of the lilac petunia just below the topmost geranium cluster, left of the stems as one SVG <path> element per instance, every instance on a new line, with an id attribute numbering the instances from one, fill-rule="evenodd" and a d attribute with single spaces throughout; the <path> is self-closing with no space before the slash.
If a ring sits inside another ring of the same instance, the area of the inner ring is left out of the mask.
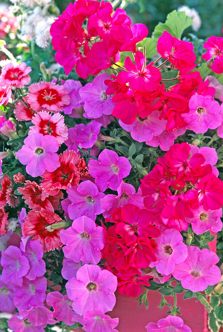
<path id="1" fill-rule="evenodd" d="M 109 78 L 106 73 L 100 74 L 92 83 L 87 83 L 80 89 L 79 93 L 88 118 L 96 119 L 102 114 L 112 114 L 115 104 L 112 102 L 112 98 L 106 94 L 107 85 L 104 83 Z"/>

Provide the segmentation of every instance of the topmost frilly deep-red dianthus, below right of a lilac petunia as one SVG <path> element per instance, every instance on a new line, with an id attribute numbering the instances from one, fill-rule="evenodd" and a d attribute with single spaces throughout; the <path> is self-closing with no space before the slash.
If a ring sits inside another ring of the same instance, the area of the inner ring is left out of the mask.
<path id="1" fill-rule="evenodd" d="M 71 186 L 78 186 L 80 175 L 77 166 L 80 157 L 70 150 L 64 151 L 59 157 L 60 167 L 54 172 L 45 171 L 42 175 L 41 187 L 50 195 L 56 195 L 60 189 L 66 190 Z"/>

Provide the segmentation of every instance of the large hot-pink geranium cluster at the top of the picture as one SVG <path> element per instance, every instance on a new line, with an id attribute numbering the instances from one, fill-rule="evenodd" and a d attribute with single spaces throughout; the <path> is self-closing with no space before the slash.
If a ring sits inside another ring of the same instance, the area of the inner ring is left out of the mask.
<path id="1" fill-rule="evenodd" d="M 80 77 L 97 75 L 120 58 L 120 51 L 136 51 L 148 29 L 143 24 L 132 26 L 123 9 L 113 8 L 109 2 L 78 0 L 69 4 L 53 23 L 50 33 L 56 52 L 56 61 L 66 75 L 75 66 Z M 87 29 L 83 22 L 87 20 Z M 98 37 L 97 37 L 98 36 Z"/>

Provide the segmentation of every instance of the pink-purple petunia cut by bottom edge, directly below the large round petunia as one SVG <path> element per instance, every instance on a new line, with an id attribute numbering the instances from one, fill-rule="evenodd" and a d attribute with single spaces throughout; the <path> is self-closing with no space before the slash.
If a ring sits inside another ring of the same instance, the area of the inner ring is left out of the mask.
<path id="1" fill-rule="evenodd" d="M 79 322 L 83 325 L 83 330 L 86 332 L 118 332 L 115 327 L 118 325 L 119 319 L 111 318 L 101 310 L 91 309 L 86 311 Z"/>

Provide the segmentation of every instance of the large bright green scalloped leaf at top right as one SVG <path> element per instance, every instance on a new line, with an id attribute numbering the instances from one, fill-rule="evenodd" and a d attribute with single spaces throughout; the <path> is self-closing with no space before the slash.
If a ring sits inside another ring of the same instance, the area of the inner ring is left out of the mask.
<path id="1" fill-rule="evenodd" d="M 163 32 L 167 30 L 171 36 L 180 39 L 183 31 L 190 27 L 193 21 L 186 16 L 185 12 L 173 12 L 167 15 L 167 20 L 165 23 L 159 23 L 153 32 L 154 40 L 157 41 Z"/>

